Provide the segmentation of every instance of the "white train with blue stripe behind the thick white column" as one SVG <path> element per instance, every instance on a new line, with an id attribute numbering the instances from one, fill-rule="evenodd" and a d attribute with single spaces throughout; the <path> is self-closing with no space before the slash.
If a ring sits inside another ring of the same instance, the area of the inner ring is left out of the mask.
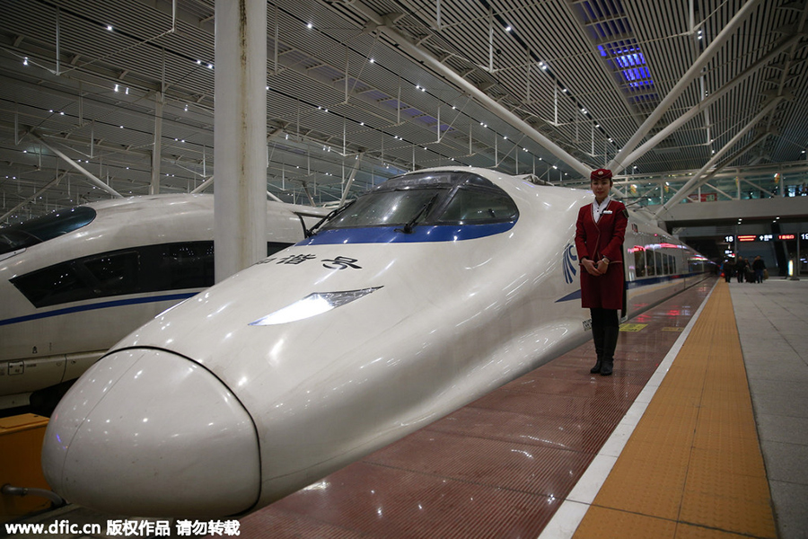
<path id="1" fill-rule="evenodd" d="M 325 215 L 267 205 L 268 253 L 305 237 L 300 215 Z M 213 239 L 212 195 L 106 200 L 0 228 L 0 408 L 32 392 L 55 405 L 127 333 L 213 285 Z"/>

